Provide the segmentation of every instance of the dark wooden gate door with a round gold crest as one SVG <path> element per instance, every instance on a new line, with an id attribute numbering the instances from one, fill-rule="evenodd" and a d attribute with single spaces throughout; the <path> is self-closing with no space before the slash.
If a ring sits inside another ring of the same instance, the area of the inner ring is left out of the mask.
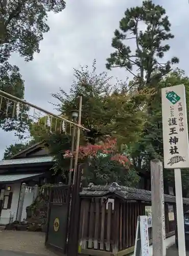
<path id="1" fill-rule="evenodd" d="M 51 189 L 48 210 L 45 245 L 66 252 L 68 239 L 68 219 L 70 186 L 61 185 Z"/>

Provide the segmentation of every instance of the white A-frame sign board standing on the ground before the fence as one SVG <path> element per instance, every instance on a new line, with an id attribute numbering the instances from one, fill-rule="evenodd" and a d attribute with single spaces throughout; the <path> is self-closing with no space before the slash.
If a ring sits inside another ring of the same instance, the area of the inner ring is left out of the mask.
<path id="1" fill-rule="evenodd" d="M 138 216 L 134 256 L 149 256 L 148 216 Z"/>

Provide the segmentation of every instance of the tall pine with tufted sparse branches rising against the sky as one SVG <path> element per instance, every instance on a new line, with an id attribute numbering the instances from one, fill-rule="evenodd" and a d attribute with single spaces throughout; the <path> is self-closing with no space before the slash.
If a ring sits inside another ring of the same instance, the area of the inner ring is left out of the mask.
<path id="1" fill-rule="evenodd" d="M 141 26 L 145 26 L 143 31 Z M 174 38 L 170 28 L 166 10 L 152 1 L 127 9 L 120 21 L 120 30 L 114 32 L 112 47 L 115 51 L 107 59 L 106 67 L 125 68 L 134 78 L 130 86 L 137 90 L 146 85 L 155 87 L 171 71 L 171 65 L 178 63 L 176 57 L 165 63 L 161 60 L 170 50 L 164 41 Z"/>

